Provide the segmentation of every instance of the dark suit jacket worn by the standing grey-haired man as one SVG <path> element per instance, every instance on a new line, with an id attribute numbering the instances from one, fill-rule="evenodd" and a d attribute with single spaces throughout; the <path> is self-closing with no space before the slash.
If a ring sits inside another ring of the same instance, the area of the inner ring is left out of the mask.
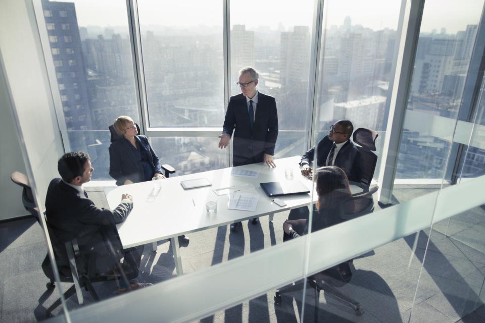
<path id="1" fill-rule="evenodd" d="M 258 104 L 251 131 L 248 104 L 241 93 L 231 96 L 227 106 L 222 133 L 232 136 L 233 165 L 245 165 L 263 161 L 265 153 L 274 155 L 274 146 L 278 137 L 278 114 L 274 97 L 258 92 Z M 252 147 L 252 149 L 251 149 Z"/>

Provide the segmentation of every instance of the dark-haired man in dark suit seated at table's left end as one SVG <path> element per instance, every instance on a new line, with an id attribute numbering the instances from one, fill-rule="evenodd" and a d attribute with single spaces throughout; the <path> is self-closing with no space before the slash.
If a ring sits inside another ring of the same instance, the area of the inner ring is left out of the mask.
<path id="1" fill-rule="evenodd" d="M 115 226 L 126 219 L 133 208 L 133 197 L 122 194 L 121 202 L 114 210 L 96 207 L 82 188 L 82 184 L 91 180 L 94 171 L 86 152 L 73 151 L 64 154 L 59 159 L 58 171 L 62 179 L 55 178 L 51 181 L 45 197 L 45 216 L 55 235 L 55 250 L 60 250 L 56 257 L 61 263 L 68 263 L 64 243 L 76 239 L 80 251 L 95 254 L 95 263 L 79 263 L 78 268 L 94 266 L 96 275 L 113 271 L 118 264 L 109 258 L 101 232 L 103 227 Z M 116 228 L 114 230 L 116 232 Z M 121 268 L 126 270 L 128 279 L 136 277 L 142 252 L 143 246 L 122 250 L 124 260 Z M 152 284 L 131 282 L 128 285 L 128 282 L 121 280 L 118 292 L 149 285 Z"/>

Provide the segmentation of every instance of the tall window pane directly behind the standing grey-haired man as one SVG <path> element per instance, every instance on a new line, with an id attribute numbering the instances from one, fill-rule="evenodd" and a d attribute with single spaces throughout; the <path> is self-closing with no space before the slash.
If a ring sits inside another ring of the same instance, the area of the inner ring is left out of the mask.
<path id="1" fill-rule="evenodd" d="M 280 131 L 276 155 L 288 155 L 288 146 L 281 144 L 286 140 L 281 133 L 284 130 L 300 131 L 299 140 L 292 144 L 296 154 L 306 150 L 305 130 L 311 116 L 308 82 L 313 7 L 312 1 L 296 4 L 251 0 L 230 4 L 231 95 L 241 93 L 235 84 L 239 70 L 254 67 L 259 73 L 258 91 L 276 99 Z"/>

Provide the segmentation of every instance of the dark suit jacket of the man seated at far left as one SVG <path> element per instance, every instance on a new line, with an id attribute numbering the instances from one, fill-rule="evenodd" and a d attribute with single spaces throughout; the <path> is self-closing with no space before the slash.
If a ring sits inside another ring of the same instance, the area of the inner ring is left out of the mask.
<path id="1" fill-rule="evenodd" d="M 50 232 L 55 235 L 55 239 L 52 240 L 56 245 L 53 247 L 61 251 L 57 254 L 61 263 L 67 263 L 64 243 L 74 238 L 77 239 L 79 249 L 83 251 L 99 246 L 105 247 L 100 228 L 123 222 L 132 207 L 131 201 L 120 203 L 114 210 L 96 207 L 89 198 L 60 178 L 53 179 L 45 197 L 45 216 Z M 99 250 L 102 252 L 101 248 Z M 78 264 L 79 266 L 82 264 Z M 99 273 L 113 268 L 103 261 L 96 261 L 96 266 Z"/>

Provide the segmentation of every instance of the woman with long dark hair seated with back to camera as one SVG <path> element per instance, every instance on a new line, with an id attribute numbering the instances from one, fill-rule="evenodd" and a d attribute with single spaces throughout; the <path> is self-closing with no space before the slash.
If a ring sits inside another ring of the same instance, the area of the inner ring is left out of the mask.
<path id="1" fill-rule="evenodd" d="M 313 208 L 311 231 L 327 228 L 344 220 L 344 201 L 352 196 L 345 172 L 336 166 L 322 167 L 316 174 L 318 201 Z M 303 208 L 307 210 L 308 208 Z M 308 216 L 299 220 L 286 220 L 283 224 L 283 241 L 299 237 L 308 232 Z"/>

